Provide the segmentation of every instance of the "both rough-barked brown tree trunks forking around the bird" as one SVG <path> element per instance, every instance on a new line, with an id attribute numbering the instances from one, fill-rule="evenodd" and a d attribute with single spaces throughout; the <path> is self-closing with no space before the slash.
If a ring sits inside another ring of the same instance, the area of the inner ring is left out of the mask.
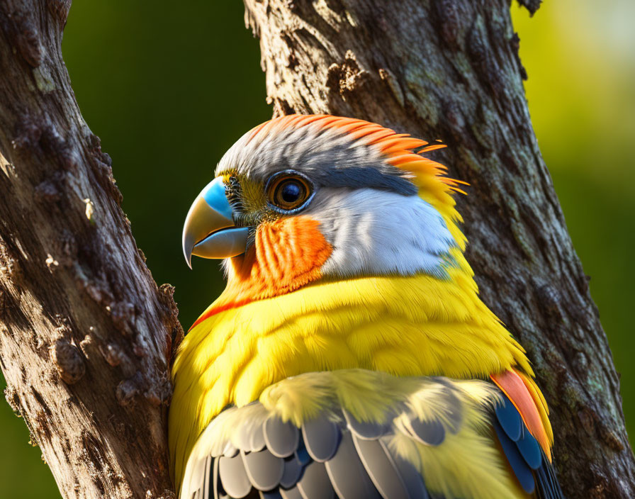
<path id="1" fill-rule="evenodd" d="M 167 498 L 168 371 L 182 332 L 74 100 L 60 52 L 69 4 L 0 0 L 6 398 L 64 498 Z M 536 145 L 509 5 L 245 4 L 277 114 L 357 116 L 449 145 L 439 159 L 471 183 L 468 257 L 534 361 L 568 497 L 635 497 L 619 381 Z"/>

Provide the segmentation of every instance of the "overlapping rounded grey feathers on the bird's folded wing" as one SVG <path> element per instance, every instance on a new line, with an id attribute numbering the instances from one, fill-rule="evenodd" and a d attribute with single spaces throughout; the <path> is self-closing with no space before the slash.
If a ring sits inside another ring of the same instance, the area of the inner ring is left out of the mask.
<path id="1" fill-rule="evenodd" d="M 191 481 L 198 488 L 181 499 L 429 498 L 420 472 L 384 442 L 393 431 L 388 425 L 340 416 L 338 423 L 333 413 L 322 414 L 299 429 L 275 417 L 237 428 L 220 456 L 196 465 Z M 434 420 L 423 423 L 410 414 L 408 421 L 417 440 L 434 444 L 443 437 Z"/>

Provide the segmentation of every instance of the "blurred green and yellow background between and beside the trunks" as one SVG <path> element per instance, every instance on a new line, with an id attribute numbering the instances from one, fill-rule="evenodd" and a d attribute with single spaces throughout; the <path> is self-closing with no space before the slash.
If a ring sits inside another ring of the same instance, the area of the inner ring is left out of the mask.
<path id="1" fill-rule="evenodd" d="M 551 0 L 534 18 L 517 6 L 512 16 L 534 128 L 592 276 L 634 432 L 635 3 Z M 187 208 L 227 147 L 271 116 L 242 2 L 76 1 L 63 51 L 84 118 L 113 157 L 137 243 L 157 283 L 176 286 L 187 326 L 223 286 L 212 265 L 186 269 Z M 4 402 L 0 431 L 0 498 L 59 498 Z"/>

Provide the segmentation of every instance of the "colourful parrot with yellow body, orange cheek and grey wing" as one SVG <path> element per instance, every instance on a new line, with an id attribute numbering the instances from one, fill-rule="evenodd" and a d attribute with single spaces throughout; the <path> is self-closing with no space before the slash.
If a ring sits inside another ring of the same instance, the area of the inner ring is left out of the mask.
<path id="1" fill-rule="evenodd" d="M 172 366 L 179 498 L 563 498 L 549 408 L 479 297 L 441 147 L 295 114 L 225 152 L 182 237 L 227 286 Z"/>

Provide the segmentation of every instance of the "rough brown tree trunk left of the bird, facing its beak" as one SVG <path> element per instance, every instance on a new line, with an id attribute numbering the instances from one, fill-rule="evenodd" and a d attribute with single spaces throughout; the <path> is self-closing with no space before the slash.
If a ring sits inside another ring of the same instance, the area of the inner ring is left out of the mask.
<path id="1" fill-rule="evenodd" d="M 174 497 L 169 364 L 182 335 L 82 120 L 69 0 L 0 0 L 0 362 L 64 498 Z"/>

